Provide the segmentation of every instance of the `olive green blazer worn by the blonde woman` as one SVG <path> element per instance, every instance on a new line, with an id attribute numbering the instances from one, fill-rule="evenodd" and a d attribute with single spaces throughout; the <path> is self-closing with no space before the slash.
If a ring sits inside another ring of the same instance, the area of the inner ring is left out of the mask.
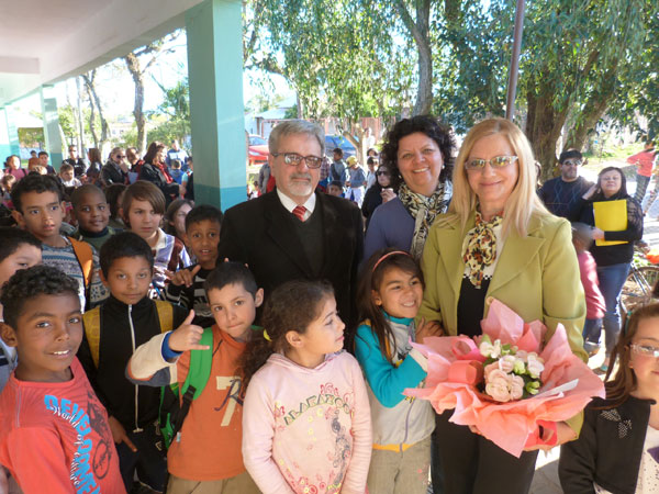
<path id="1" fill-rule="evenodd" d="M 473 214 L 463 228 L 448 215 L 438 216 L 423 251 L 425 292 L 417 317 L 439 321 L 447 335 L 457 334 L 458 299 L 465 272 L 462 243 L 473 226 Z M 504 242 L 487 297 L 503 302 L 527 323 L 541 321 L 548 328 L 547 339 L 561 323 L 572 351 L 588 361 L 581 337 L 585 296 L 570 223 L 536 213 L 526 237 L 511 232 Z M 483 317 L 488 307 L 485 304 Z"/>

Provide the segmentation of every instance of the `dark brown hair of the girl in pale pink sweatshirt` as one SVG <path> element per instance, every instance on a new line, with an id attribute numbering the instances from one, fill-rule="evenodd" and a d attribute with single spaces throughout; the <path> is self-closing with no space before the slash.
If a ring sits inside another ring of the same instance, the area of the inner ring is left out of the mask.
<path id="1" fill-rule="evenodd" d="M 287 349 L 288 332 L 306 333 L 330 296 L 334 296 L 334 289 L 325 281 L 294 280 L 275 289 L 264 308 L 265 332 L 253 337 L 241 358 L 244 389 L 273 352 Z"/>

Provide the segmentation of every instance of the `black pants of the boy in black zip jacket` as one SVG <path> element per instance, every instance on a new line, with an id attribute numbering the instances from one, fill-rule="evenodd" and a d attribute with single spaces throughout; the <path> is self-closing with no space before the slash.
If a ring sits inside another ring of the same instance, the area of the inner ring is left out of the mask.
<path id="1" fill-rule="evenodd" d="M 163 444 L 163 436 L 156 433 L 155 424 L 144 427 L 142 433 L 127 431 L 127 435 L 137 451 L 131 451 L 124 442 L 116 445 L 119 469 L 126 491 L 131 492 L 133 478 L 137 472 L 137 479 L 142 483 L 154 491 L 163 492 L 167 475 L 167 459 L 157 446 Z"/>

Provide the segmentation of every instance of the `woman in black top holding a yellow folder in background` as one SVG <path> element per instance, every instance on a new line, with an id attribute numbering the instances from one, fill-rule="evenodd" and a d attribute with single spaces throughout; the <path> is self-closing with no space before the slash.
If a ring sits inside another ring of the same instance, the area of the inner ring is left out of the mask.
<path id="1" fill-rule="evenodd" d="M 643 237 L 643 211 L 640 204 L 627 193 L 625 176 L 617 167 L 600 171 L 597 183 L 583 199 L 588 202 L 581 211 L 581 221 L 593 226 L 595 244 L 591 252 L 597 263 L 600 290 L 606 302 L 606 358 L 601 367 L 602 371 L 606 371 L 621 332 L 618 302 L 634 257 L 634 242 Z M 596 334 L 584 335 L 584 338 L 597 341 L 600 332 L 601 328 L 597 328 Z"/>

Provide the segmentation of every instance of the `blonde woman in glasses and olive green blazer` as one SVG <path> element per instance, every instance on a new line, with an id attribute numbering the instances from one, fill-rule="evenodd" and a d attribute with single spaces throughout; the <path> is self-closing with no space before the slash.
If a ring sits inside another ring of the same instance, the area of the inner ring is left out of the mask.
<path id="1" fill-rule="evenodd" d="M 490 119 L 471 128 L 456 160 L 453 201 L 425 244 L 418 317 L 435 321 L 446 335 L 476 336 L 487 301 L 494 297 L 524 321 L 545 323 L 547 337 L 562 324 L 572 350 L 587 360 L 585 302 L 570 223 L 545 209 L 535 177 L 530 145 L 517 126 Z M 477 430 L 449 423 L 451 413 L 437 417 L 436 454 L 444 473 L 437 491 L 528 492 L 537 451 L 517 459 Z M 557 424 L 558 442 L 574 439 L 581 420 Z M 545 439 L 552 435 L 544 434 Z"/>

